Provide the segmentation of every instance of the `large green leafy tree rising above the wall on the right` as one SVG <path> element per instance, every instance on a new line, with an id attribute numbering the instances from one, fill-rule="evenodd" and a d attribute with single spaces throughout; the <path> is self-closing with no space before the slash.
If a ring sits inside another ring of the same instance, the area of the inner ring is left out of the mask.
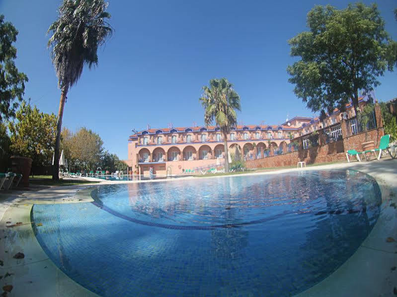
<path id="1" fill-rule="evenodd" d="M 369 92 L 378 77 L 393 69 L 390 39 L 376 4 L 349 4 L 338 10 L 315 6 L 305 31 L 288 41 L 291 56 L 299 57 L 287 72 L 295 94 L 314 112 L 344 107 L 350 100 L 357 111 L 358 91 Z"/>

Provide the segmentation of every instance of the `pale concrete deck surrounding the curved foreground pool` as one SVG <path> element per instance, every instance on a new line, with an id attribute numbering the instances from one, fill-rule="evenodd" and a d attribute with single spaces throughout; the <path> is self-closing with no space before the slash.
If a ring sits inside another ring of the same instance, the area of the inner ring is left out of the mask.
<path id="1" fill-rule="evenodd" d="M 397 240 L 397 160 L 339 163 L 308 167 L 304 170 L 328 169 L 353 169 L 374 177 L 382 190 L 382 210 L 373 230 L 357 251 L 330 276 L 299 296 L 393 296 L 394 288 L 397 288 L 397 269 L 393 270 L 397 266 L 397 241 L 387 242 L 387 238 Z M 282 174 L 291 171 L 301 169 L 247 175 Z M 238 176 L 241 175 L 231 177 Z M 213 178 L 225 177 L 229 176 Z M 11 292 L 7 295 L 9 297 L 97 296 L 65 275 L 41 248 L 32 229 L 32 225 L 34 228 L 40 228 L 40 222 L 31 222 L 30 212 L 33 204 L 92 201 L 89 196 L 90 188 L 99 184 L 172 182 L 183 179 L 187 178 L 103 180 L 98 184 L 51 187 L 35 192 L 0 193 L 0 288 L 12 286 Z M 19 222 L 22 224 L 16 225 Z M 14 255 L 18 252 L 23 253 L 24 258 L 15 259 Z"/>

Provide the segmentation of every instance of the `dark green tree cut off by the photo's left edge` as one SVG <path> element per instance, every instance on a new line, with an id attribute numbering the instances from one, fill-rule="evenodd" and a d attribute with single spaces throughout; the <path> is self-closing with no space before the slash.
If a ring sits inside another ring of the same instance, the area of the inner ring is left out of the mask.
<path id="1" fill-rule="evenodd" d="M 0 14 L 0 123 L 15 117 L 18 101 L 22 101 L 27 76 L 15 67 L 16 41 L 18 31 L 10 22 L 4 22 Z"/>

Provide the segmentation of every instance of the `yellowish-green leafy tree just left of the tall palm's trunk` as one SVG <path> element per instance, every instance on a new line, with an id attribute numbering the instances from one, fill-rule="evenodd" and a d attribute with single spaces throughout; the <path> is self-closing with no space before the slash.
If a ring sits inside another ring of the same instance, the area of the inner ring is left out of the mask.
<path id="1" fill-rule="evenodd" d="M 36 106 L 32 108 L 22 101 L 15 119 L 8 124 L 12 152 L 31 158 L 36 166 L 50 165 L 55 144 L 57 117 L 54 114 L 40 113 Z"/>

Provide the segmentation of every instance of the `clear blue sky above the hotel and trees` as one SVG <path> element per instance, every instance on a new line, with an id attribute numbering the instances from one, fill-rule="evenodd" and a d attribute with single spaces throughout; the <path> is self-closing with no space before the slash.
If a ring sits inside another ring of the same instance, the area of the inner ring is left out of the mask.
<path id="1" fill-rule="evenodd" d="M 19 31 L 16 64 L 29 77 L 25 99 L 55 114 L 60 90 L 46 32 L 60 3 L 0 0 L 0 13 Z M 344 8 L 348 2 L 109 0 L 115 33 L 99 50 L 99 66 L 84 69 L 70 90 L 63 125 L 92 129 L 109 152 L 125 159 L 132 128 L 202 125 L 201 87 L 218 77 L 235 85 L 244 124 L 312 116 L 287 81 L 293 63 L 287 40 L 307 30 L 306 15 L 315 4 L 327 3 Z M 378 7 L 397 40 L 397 1 L 382 0 Z M 377 98 L 397 97 L 397 72 L 380 80 Z"/>

